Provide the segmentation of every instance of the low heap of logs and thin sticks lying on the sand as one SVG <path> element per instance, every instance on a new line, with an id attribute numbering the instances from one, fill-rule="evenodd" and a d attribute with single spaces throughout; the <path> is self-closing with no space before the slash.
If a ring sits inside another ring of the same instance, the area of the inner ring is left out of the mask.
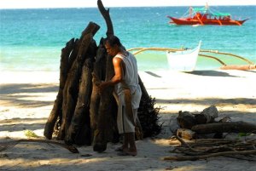
<path id="1" fill-rule="evenodd" d="M 177 128 L 170 144 L 177 145 L 172 152 L 182 153 L 183 156 L 164 157 L 164 160 L 185 161 L 226 156 L 256 161 L 256 136 L 242 140 L 223 138 L 224 133 L 255 134 L 256 125 L 230 122 L 229 117 L 217 122 L 216 117 L 218 110 L 214 105 L 196 114 L 179 111 L 177 123 L 180 128 Z M 237 155 L 246 157 L 237 157 Z"/>

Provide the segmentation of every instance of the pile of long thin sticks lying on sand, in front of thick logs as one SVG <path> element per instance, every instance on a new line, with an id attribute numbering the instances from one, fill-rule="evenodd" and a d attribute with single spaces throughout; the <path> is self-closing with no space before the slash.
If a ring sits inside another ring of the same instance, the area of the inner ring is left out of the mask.
<path id="1" fill-rule="evenodd" d="M 177 145 L 173 151 L 182 156 L 164 157 L 170 161 L 195 161 L 209 157 L 234 157 L 256 161 L 256 140 L 199 139 L 185 141 L 176 135 L 171 145 Z"/>

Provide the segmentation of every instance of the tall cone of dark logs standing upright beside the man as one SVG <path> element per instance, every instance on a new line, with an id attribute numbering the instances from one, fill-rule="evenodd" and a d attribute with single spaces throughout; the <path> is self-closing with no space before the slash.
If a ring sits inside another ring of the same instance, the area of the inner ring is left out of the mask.
<path id="1" fill-rule="evenodd" d="M 107 37 L 113 34 L 113 25 L 102 1 L 98 9 L 106 21 Z M 112 56 L 104 48 L 104 39 L 99 45 L 93 39 L 100 26 L 90 22 L 81 37 L 72 38 L 61 50 L 60 87 L 52 111 L 44 128 L 44 136 L 65 140 L 67 145 L 93 145 L 94 151 L 105 151 L 108 142 L 118 142 L 117 104 L 113 87 L 99 94 L 96 85 L 110 80 L 113 75 Z M 94 77 L 93 77 L 94 76 Z M 158 108 L 140 79 L 143 97 L 138 109 L 137 139 L 160 133 Z M 139 122 L 140 121 L 140 122 Z M 140 124 L 141 123 L 141 124 Z"/>

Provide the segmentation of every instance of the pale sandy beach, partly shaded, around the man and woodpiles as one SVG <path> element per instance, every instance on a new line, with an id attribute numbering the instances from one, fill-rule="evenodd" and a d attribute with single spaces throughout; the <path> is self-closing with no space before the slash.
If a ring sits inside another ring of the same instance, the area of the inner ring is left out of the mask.
<path id="1" fill-rule="evenodd" d="M 219 118 L 256 123 L 255 70 L 140 71 L 139 75 L 148 94 L 155 98 L 155 107 L 160 107 L 163 129 L 154 139 L 137 140 L 137 157 L 117 156 L 114 149 L 119 144 L 111 143 L 103 153 L 79 146 L 79 154 L 58 145 L 20 143 L 0 152 L 0 170 L 256 170 L 255 161 L 231 157 L 162 160 L 177 155 L 170 152 L 174 148 L 170 138 L 178 111 L 202 111 L 216 105 Z M 59 73 L 6 71 L 0 77 L 0 141 L 27 139 L 26 130 L 44 140 L 44 124 L 58 91 Z"/>

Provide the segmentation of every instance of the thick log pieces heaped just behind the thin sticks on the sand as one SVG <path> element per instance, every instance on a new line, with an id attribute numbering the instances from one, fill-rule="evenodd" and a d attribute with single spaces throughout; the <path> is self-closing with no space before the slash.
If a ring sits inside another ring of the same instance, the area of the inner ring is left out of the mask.
<path id="1" fill-rule="evenodd" d="M 224 117 L 218 122 L 218 110 L 215 105 L 207 107 L 201 113 L 193 114 L 189 111 L 179 111 L 177 136 L 183 139 L 198 139 L 201 135 L 221 138 L 223 133 L 256 133 L 256 125 L 244 122 L 230 122 L 230 117 Z"/>

